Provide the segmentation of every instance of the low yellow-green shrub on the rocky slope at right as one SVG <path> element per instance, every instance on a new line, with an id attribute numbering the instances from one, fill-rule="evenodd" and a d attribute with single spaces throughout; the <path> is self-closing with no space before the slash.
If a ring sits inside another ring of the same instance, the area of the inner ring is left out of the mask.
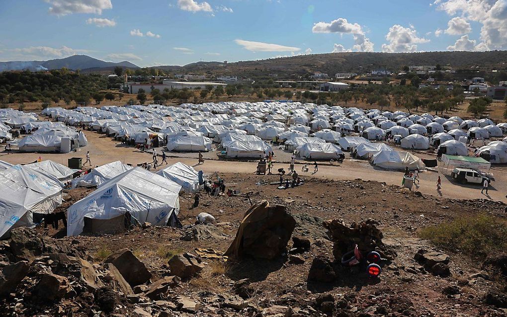
<path id="1" fill-rule="evenodd" d="M 426 227 L 419 235 L 442 248 L 481 257 L 507 248 L 507 221 L 487 214 L 460 216 Z"/>

